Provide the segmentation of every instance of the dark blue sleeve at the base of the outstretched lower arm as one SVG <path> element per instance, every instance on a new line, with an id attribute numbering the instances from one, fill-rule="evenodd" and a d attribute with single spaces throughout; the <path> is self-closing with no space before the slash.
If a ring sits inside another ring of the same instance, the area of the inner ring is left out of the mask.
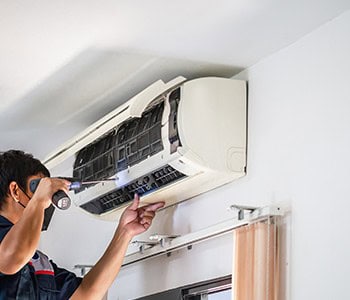
<path id="1" fill-rule="evenodd" d="M 66 269 L 57 267 L 53 261 L 50 262 L 55 271 L 56 288 L 59 291 L 58 299 L 67 300 L 73 295 L 83 279 Z"/>

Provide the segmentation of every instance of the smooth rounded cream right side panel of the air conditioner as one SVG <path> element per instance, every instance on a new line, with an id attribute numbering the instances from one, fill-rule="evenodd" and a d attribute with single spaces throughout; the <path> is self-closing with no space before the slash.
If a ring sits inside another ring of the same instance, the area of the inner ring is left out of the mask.
<path id="1" fill-rule="evenodd" d="M 243 172 L 246 165 L 246 84 L 226 78 L 185 82 L 178 126 L 183 152 L 209 169 Z"/>

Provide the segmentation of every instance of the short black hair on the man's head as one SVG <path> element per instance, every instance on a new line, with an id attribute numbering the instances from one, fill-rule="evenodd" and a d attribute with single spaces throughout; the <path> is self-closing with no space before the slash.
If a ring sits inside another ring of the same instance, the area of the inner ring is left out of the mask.
<path id="1" fill-rule="evenodd" d="M 20 150 L 0 152 L 0 208 L 12 181 L 26 191 L 28 177 L 39 173 L 50 176 L 49 170 L 32 154 Z"/>

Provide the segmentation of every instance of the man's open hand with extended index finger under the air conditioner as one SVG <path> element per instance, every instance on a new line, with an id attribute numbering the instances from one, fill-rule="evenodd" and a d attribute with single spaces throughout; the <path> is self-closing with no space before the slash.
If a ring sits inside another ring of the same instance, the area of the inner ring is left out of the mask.
<path id="1" fill-rule="evenodd" d="M 140 197 L 135 194 L 133 203 L 123 212 L 118 230 L 125 230 L 131 237 L 145 232 L 152 224 L 155 212 L 165 205 L 165 202 L 157 202 L 138 207 Z"/>

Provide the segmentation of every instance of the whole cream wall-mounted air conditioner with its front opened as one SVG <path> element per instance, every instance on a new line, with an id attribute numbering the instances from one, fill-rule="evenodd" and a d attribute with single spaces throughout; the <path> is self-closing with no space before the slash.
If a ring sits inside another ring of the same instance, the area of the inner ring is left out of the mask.
<path id="1" fill-rule="evenodd" d="M 76 191 L 75 204 L 107 220 L 141 202 L 183 201 L 244 176 L 246 83 L 159 80 L 57 149 L 50 169 L 75 155 L 73 176 L 116 178 Z"/>

